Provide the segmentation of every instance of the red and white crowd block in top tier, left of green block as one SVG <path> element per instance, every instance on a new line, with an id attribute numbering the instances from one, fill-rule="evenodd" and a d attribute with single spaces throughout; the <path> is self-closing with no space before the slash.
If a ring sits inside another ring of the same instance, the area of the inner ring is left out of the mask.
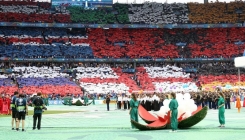
<path id="1" fill-rule="evenodd" d="M 51 5 L 47 2 L 34 1 L 1 1 L 1 22 L 71 22 L 69 11 L 63 13 L 51 12 Z"/>

